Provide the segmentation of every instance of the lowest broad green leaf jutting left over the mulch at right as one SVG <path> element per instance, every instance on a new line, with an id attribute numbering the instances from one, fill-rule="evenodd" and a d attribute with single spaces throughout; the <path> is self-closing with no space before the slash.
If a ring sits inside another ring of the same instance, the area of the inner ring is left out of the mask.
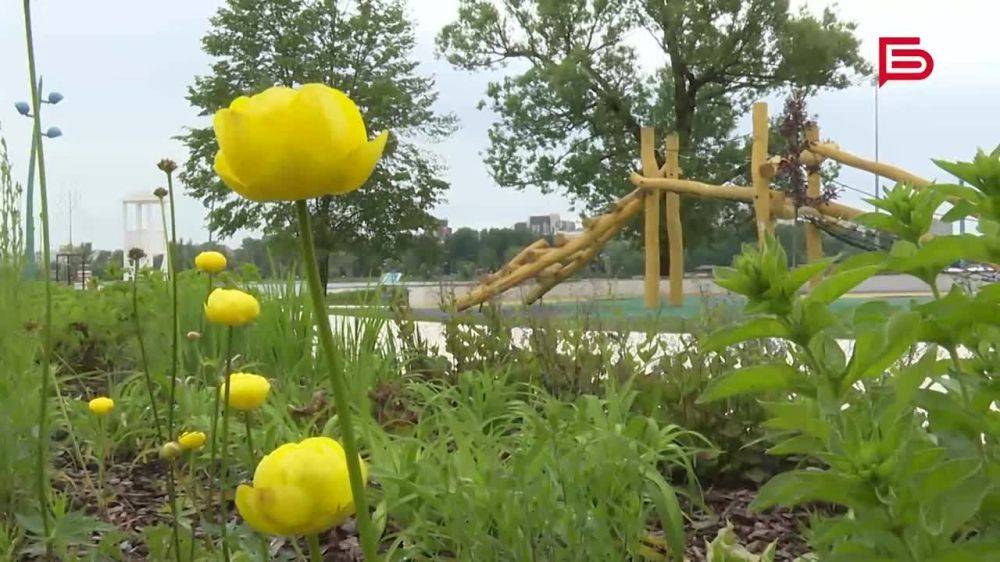
<path id="1" fill-rule="evenodd" d="M 864 508 L 877 502 L 867 484 L 856 476 L 823 470 L 792 470 L 779 474 L 761 487 L 750 509 L 792 507 L 807 502 L 829 502 Z"/>

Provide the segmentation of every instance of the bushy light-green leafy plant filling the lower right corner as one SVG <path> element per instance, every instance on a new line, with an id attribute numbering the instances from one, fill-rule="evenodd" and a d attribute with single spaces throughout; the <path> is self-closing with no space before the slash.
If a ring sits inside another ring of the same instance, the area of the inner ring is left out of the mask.
<path id="1" fill-rule="evenodd" d="M 990 215 L 1000 195 L 998 156 L 942 164 L 960 171 L 968 190 L 897 186 L 887 193 L 878 204 L 886 214 L 862 221 L 898 236 L 892 250 L 845 260 L 809 294 L 797 291 L 828 264 L 790 270 L 773 240 L 746 248 L 717 274 L 756 316 L 708 336 L 704 346 L 778 338 L 790 353 L 733 370 L 702 400 L 778 393 L 764 403 L 770 452 L 815 468 L 774 477 L 753 507 L 841 506 L 841 514 L 813 525 L 822 560 L 977 560 L 1000 549 L 1000 288 L 991 283 L 973 294 L 956 285 L 942 296 L 937 287 L 956 261 L 1000 257 Z M 950 218 L 979 213 L 981 236 L 928 235 L 947 196 L 969 202 Z M 829 310 L 880 271 L 913 275 L 935 298 L 898 310 L 869 303 L 848 320 Z M 853 345 L 845 349 L 836 334 Z"/>

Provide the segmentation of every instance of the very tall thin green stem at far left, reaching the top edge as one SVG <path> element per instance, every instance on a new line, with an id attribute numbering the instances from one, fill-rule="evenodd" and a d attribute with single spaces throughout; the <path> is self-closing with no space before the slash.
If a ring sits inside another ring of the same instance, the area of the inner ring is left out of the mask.
<path id="1" fill-rule="evenodd" d="M 38 195 L 41 200 L 42 220 L 42 271 L 45 281 L 45 324 L 42 326 L 42 384 L 39 385 L 38 409 L 38 458 L 35 473 L 38 478 L 38 511 L 42 516 L 42 532 L 45 542 L 45 557 L 52 558 L 52 524 L 49 521 L 49 373 L 52 371 L 52 277 L 49 255 L 49 199 L 45 184 L 45 150 L 42 146 L 41 95 L 38 91 L 38 75 L 35 72 L 35 44 L 31 34 L 31 3 L 23 1 L 24 7 L 24 37 L 28 51 L 28 78 L 31 82 L 31 107 L 34 113 L 34 130 L 32 140 L 35 144 L 38 162 Z M 28 220 L 33 220 L 28 217 Z"/>

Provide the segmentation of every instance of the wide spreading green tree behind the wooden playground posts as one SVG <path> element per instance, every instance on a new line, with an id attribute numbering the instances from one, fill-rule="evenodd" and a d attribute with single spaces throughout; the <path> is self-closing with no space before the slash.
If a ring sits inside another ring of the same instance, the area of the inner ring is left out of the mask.
<path id="1" fill-rule="evenodd" d="M 562 191 L 596 211 L 631 190 L 639 129 L 676 131 L 686 177 L 746 176 L 737 119 L 784 87 L 842 88 L 869 72 L 854 25 L 787 0 L 462 0 L 438 48 L 467 70 L 504 69 L 487 98 L 498 121 L 486 162 L 505 187 Z M 660 67 L 627 41 L 648 32 Z M 485 105 L 485 102 L 484 102 Z M 746 216 L 684 200 L 685 241 Z"/>

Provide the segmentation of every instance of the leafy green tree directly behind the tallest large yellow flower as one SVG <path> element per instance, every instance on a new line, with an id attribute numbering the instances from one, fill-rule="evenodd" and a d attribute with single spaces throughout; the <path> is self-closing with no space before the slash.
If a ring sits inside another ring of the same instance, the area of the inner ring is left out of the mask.
<path id="1" fill-rule="evenodd" d="M 213 58 L 211 72 L 188 89 L 201 115 L 270 86 L 321 82 L 354 99 L 370 131 L 392 132 L 363 189 L 309 204 L 324 281 L 331 253 L 359 246 L 388 253 L 432 223 L 427 211 L 448 184 L 441 164 L 417 140 L 446 137 L 454 118 L 432 109 L 434 81 L 417 71 L 401 0 L 228 0 L 211 24 L 202 41 Z M 212 170 L 218 147 L 211 127 L 181 138 L 190 151 L 181 179 L 211 209 L 214 233 L 263 228 L 275 234 L 291 227 L 291 205 L 249 201 L 221 183 Z"/>

